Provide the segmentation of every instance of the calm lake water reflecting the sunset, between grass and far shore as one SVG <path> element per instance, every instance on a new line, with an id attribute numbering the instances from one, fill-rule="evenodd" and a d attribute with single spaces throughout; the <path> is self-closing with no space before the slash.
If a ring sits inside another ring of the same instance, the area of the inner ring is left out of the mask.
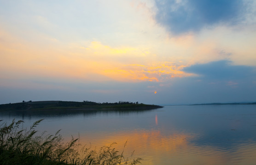
<path id="1" fill-rule="evenodd" d="M 256 105 L 166 106 L 126 112 L 0 113 L 0 119 L 45 120 L 39 131 L 102 147 L 116 142 L 143 165 L 255 165 Z"/>

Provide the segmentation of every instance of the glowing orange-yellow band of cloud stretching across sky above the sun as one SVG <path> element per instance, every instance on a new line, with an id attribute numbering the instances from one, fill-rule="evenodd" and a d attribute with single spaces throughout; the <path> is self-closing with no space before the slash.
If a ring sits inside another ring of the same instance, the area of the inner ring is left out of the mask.
<path id="1" fill-rule="evenodd" d="M 4 45 L 0 44 L 3 55 L 0 61 L 1 78 L 18 78 L 17 75 L 26 73 L 22 78 L 41 75 L 91 81 L 162 82 L 173 77 L 189 76 L 181 71 L 184 66 L 152 59 L 154 55 L 146 48 L 113 48 L 100 42 L 85 46 L 70 44 L 63 48 L 58 42 L 37 45 L 20 42 L 20 38 L 8 33 L 1 36 L 6 40 Z"/>

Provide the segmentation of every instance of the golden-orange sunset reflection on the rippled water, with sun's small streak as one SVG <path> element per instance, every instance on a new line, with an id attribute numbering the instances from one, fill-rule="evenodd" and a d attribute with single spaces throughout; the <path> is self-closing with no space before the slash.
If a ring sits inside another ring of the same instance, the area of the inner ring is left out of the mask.
<path id="1" fill-rule="evenodd" d="M 155 116 L 156 124 L 157 115 Z M 157 162 L 164 162 L 169 164 L 171 159 L 173 164 L 191 164 L 191 162 L 198 163 L 204 162 L 208 165 L 223 164 L 227 162 L 236 162 L 235 155 L 243 154 L 248 158 L 246 162 L 250 164 L 254 160 L 251 155 L 255 155 L 254 146 L 244 144 L 243 147 L 230 154 L 222 151 L 220 148 L 214 146 L 200 147 L 194 143 L 190 143 L 191 139 L 197 138 L 184 132 L 169 132 L 167 135 L 161 130 L 130 130 L 121 132 L 101 132 L 91 135 L 81 135 L 81 144 L 91 146 L 92 149 L 99 149 L 101 146 L 109 146 L 115 142 L 114 148 L 122 151 L 124 144 L 124 156 L 130 157 L 131 153 L 135 150 L 134 157 L 140 157 L 143 160 L 142 164 L 156 165 Z M 96 137 L 96 138 L 95 138 Z M 91 142 L 88 145 L 88 142 Z M 148 151 L 150 149 L 150 151 Z M 189 153 L 192 151 L 192 153 Z M 152 154 L 154 153 L 154 154 Z M 202 154 L 199 154 L 202 153 Z M 153 157 L 152 157 L 153 156 Z M 192 163 L 193 164 L 193 163 Z"/>

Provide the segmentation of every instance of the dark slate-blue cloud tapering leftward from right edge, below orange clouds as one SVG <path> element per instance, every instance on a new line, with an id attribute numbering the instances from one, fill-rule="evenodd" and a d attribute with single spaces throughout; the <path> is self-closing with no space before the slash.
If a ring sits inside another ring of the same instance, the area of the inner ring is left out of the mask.
<path id="1" fill-rule="evenodd" d="M 251 66 L 234 66 L 231 65 L 229 60 L 196 64 L 185 67 L 183 71 L 210 79 L 242 79 L 256 76 L 255 68 Z"/>

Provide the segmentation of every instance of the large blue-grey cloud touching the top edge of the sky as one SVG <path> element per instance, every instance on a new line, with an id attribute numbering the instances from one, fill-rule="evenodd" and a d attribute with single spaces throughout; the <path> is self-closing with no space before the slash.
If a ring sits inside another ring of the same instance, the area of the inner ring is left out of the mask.
<path id="1" fill-rule="evenodd" d="M 169 32 L 198 32 L 218 23 L 234 25 L 244 18 L 242 0 L 155 0 L 155 19 Z"/>

